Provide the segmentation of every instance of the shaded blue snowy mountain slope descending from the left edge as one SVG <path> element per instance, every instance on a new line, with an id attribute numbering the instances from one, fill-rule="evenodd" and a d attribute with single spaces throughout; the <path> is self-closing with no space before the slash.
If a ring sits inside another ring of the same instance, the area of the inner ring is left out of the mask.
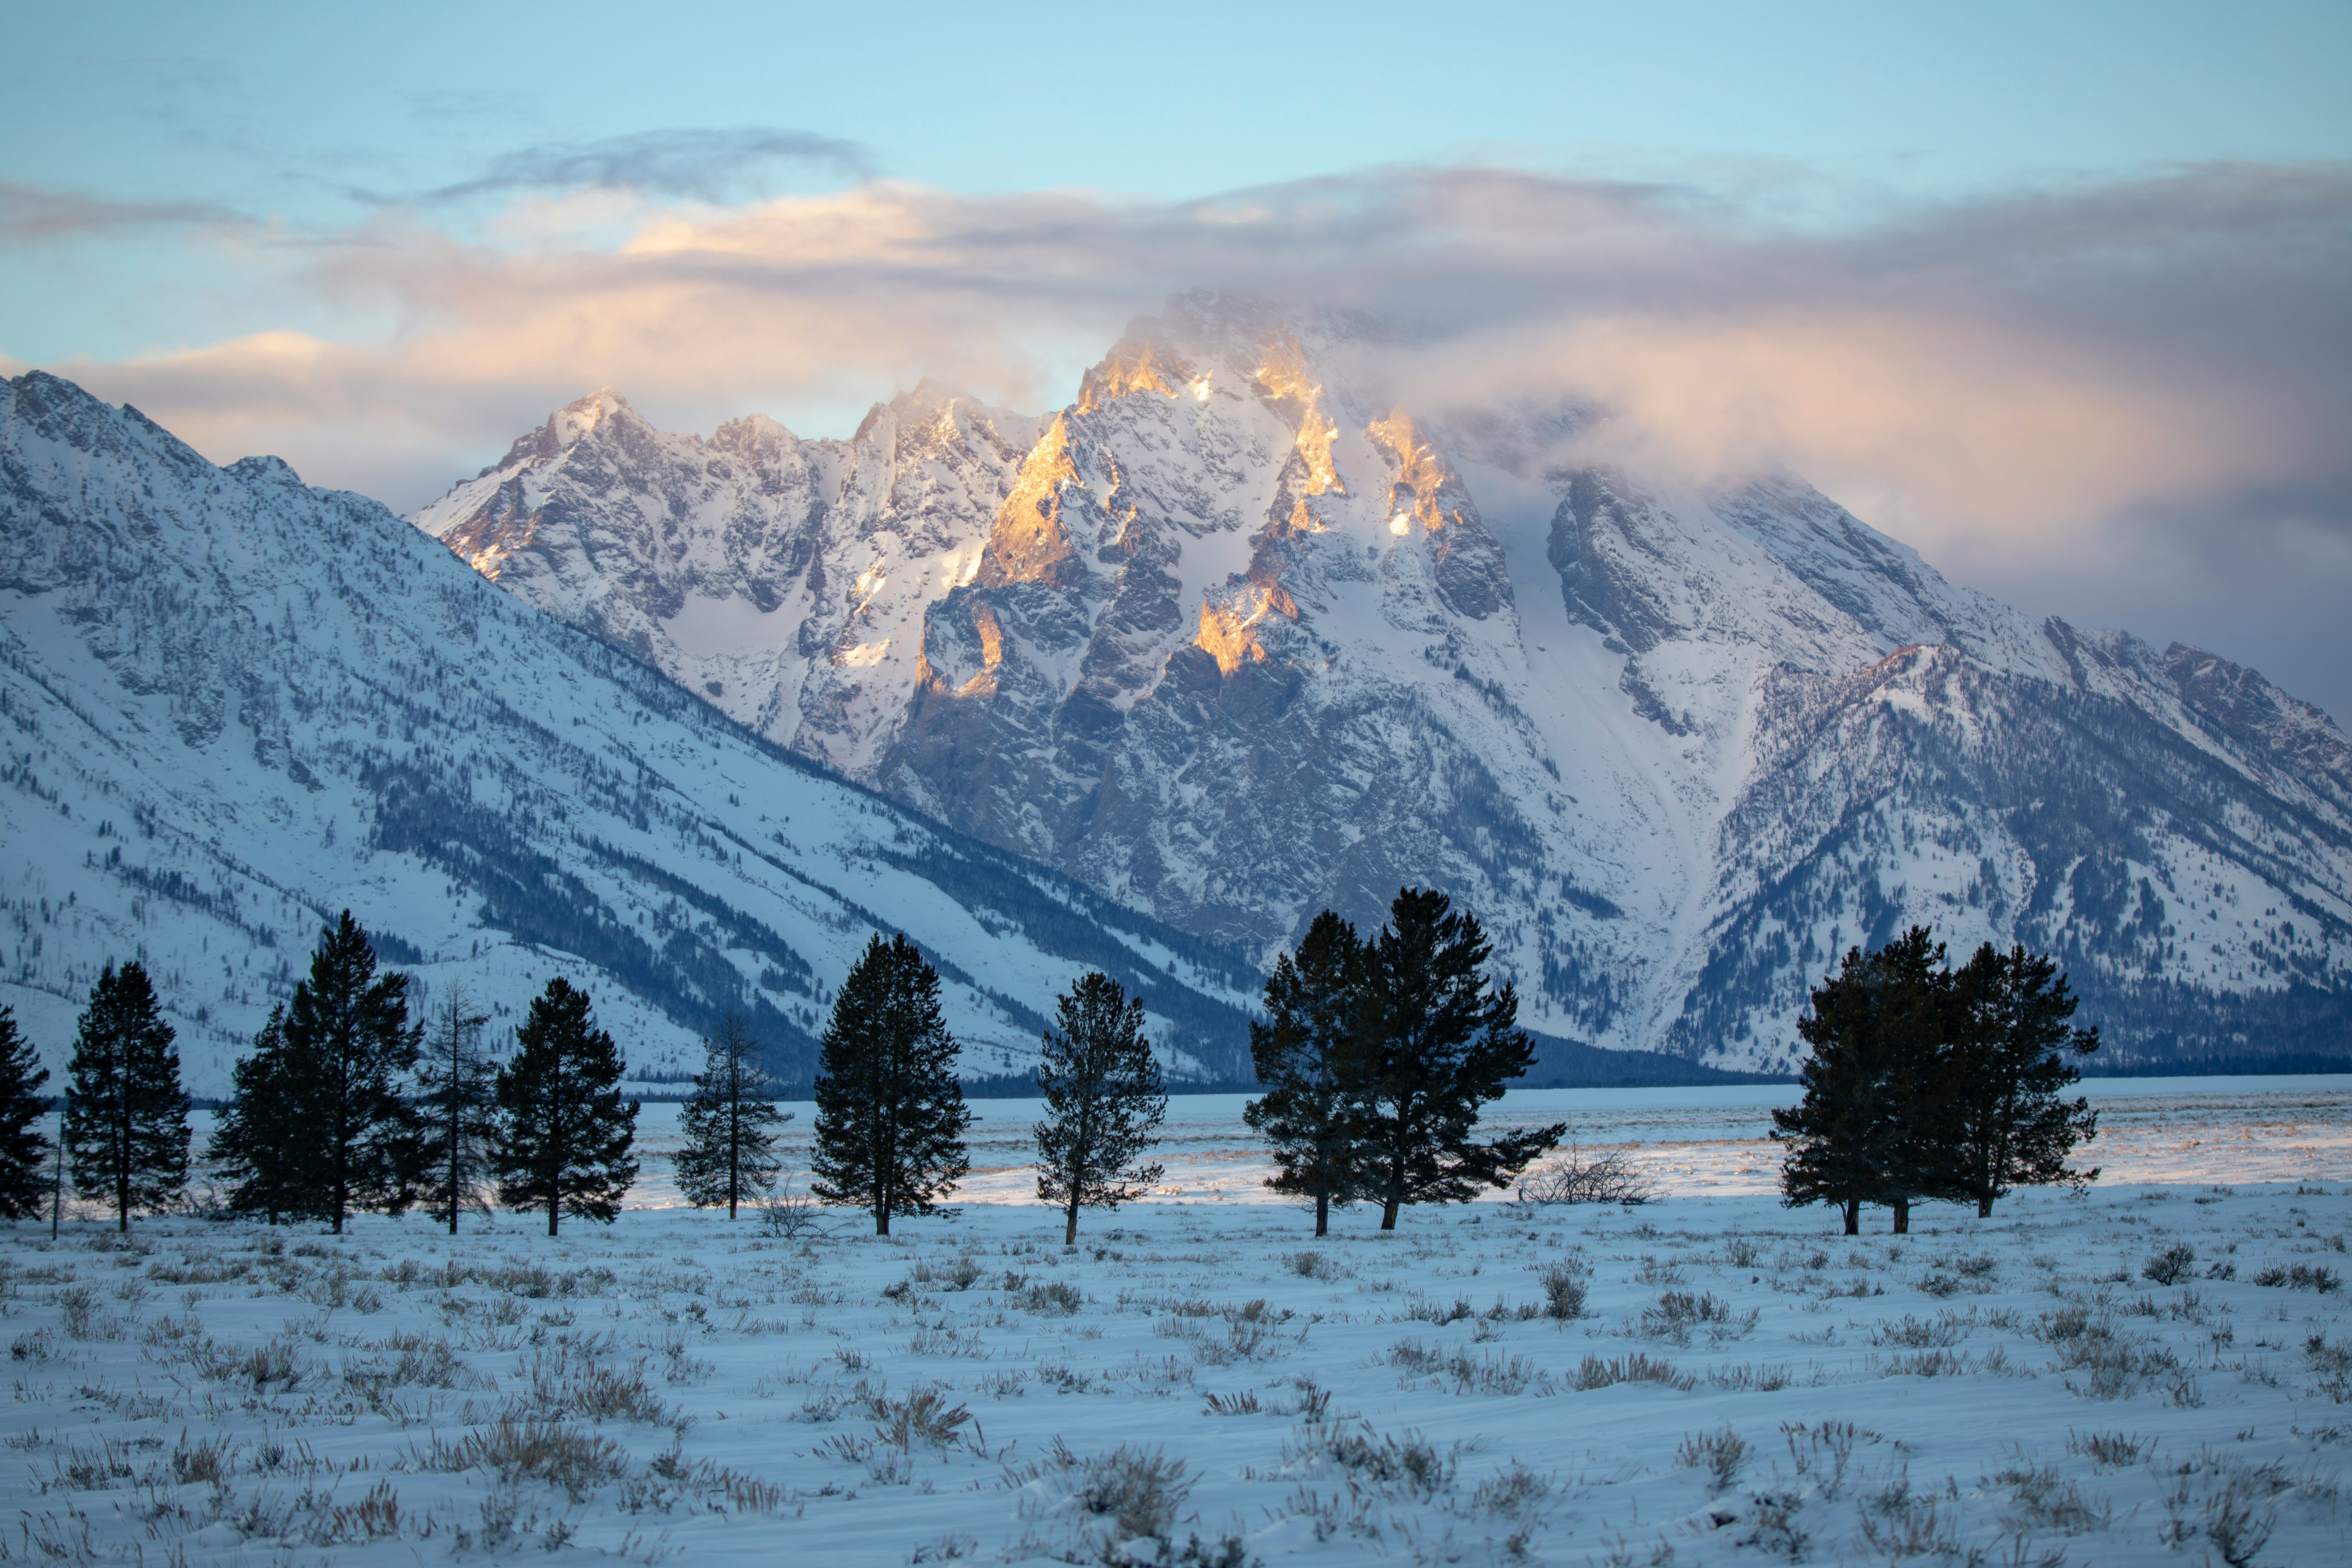
<path id="1" fill-rule="evenodd" d="M 877 929 L 938 964 L 967 1072 L 1035 1060 L 1096 966 L 1178 1072 L 1247 1060 L 1230 954 L 760 743 L 374 501 L 42 374 L 0 383 L 0 1004 L 52 1067 L 99 964 L 139 957 L 221 1093 L 346 905 L 510 1023 L 572 976 L 637 1074 L 699 1065 L 729 1009 L 804 1074 Z"/>

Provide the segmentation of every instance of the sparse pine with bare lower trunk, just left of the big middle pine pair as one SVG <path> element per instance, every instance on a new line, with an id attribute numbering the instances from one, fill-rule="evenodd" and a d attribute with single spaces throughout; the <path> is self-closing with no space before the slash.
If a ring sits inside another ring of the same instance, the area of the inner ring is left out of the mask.
<path id="1" fill-rule="evenodd" d="M 1061 1244 L 1077 1246 L 1080 1208 L 1117 1208 L 1160 1180 L 1136 1157 L 1157 1143 L 1169 1110 L 1160 1063 L 1143 1037 L 1143 999 L 1096 971 L 1056 999 L 1037 1091 L 1037 1197 L 1063 1208 Z"/>

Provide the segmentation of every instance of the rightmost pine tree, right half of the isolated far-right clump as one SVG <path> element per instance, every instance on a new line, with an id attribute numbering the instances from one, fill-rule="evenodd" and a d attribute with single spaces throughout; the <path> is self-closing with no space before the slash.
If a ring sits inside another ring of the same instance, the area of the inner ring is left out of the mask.
<path id="1" fill-rule="evenodd" d="M 2058 961 L 1985 943 L 1955 976 L 1955 992 L 1940 1135 L 1950 1197 L 1973 1201 L 1983 1220 L 2013 1187 L 2098 1180 L 2096 1166 L 2065 1164 L 2074 1145 L 2098 1138 L 2091 1103 L 2058 1098 L 2082 1081 L 2067 1053 L 2098 1051 L 2098 1030 L 2070 1027 L 2074 997 Z"/>

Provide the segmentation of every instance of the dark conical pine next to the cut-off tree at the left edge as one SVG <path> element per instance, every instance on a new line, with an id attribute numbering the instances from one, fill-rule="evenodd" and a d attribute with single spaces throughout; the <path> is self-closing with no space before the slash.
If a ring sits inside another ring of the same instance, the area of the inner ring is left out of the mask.
<path id="1" fill-rule="evenodd" d="M 139 961 L 113 964 L 89 987 L 66 1065 L 66 1159 L 73 1192 L 132 1211 L 155 1211 L 188 1185 L 188 1095 L 179 1086 L 172 1025 Z"/>

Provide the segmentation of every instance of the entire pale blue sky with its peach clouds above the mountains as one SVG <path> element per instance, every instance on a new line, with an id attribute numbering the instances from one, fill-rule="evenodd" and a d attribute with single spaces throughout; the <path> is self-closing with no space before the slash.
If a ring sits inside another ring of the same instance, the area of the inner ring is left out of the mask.
<path id="1" fill-rule="evenodd" d="M 2347 715 L 2347 80 L 2343 2 L 7 2 L 0 357 L 407 508 L 597 381 L 844 433 L 1329 296 Z"/>

